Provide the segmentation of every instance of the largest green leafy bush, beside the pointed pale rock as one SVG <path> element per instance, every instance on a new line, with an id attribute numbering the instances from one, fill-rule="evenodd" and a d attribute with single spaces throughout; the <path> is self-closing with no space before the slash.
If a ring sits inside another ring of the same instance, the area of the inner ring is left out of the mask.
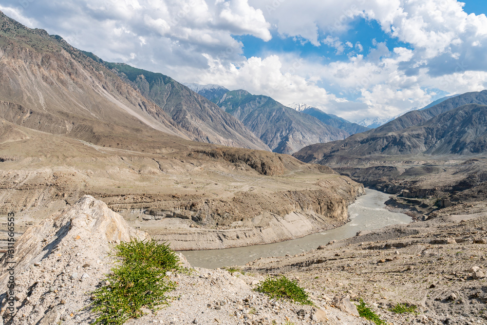
<path id="1" fill-rule="evenodd" d="M 93 312 L 101 313 L 95 324 L 121 325 L 141 317 L 142 307 L 169 305 L 176 283 L 165 273 L 183 270 L 169 245 L 133 240 L 116 245 L 112 254 L 120 263 L 107 275 L 110 284 L 93 292 Z"/>

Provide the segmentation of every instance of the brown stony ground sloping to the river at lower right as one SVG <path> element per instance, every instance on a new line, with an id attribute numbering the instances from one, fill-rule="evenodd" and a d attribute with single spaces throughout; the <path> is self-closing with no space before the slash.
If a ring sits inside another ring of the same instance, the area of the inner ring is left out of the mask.
<path id="1" fill-rule="evenodd" d="M 487 324 L 485 204 L 482 210 L 381 229 L 297 257 L 257 260 L 246 270 L 298 277 L 325 303 L 348 292 L 390 324 L 404 324 L 388 311 L 397 303 L 418 306 L 418 315 L 407 315 L 411 322 Z"/>

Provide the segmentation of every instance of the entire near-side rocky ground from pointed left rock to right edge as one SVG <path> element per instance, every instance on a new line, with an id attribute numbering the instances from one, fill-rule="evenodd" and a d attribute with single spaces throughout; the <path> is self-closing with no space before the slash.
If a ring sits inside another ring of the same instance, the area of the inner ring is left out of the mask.
<path id="1" fill-rule="evenodd" d="M 487 324 L 484 210 L 388 227 L 300 255 L 261 258 L 242 272 L 194 268 L 169 274 L 178 282 L 170 306 L 143 310 L 147 314 L 126 324 L 374 324 L 358 317 L 360 300 L 391 325 Z M 97 315 L 87 307 L 113 265 L 108 252 L 131 238 L 148 235 L 90 196 L 30 228 L 17 242 L 19 310 L 5 324 L 93 324 Z M 5 292 L 5 260 L 0 262 Z M 304 287 L 314 306 L 254 290 L 280 275 Z M 1 296 L 4 316 L 6 298 Z M 397 304 L 415 306 L 415 313 L 394 313 Z"/>

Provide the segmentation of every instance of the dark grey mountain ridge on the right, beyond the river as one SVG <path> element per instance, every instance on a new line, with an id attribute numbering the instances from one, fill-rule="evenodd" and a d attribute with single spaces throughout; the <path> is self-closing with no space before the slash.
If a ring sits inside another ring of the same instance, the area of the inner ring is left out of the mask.
<path id="1" fill-rule="evenodd" d="M 486 104 L 487 91 L 455 96 L 346 140 L 303 148 L 294 156 L 305 162 L 333 164 L 366 156 L 483 153 L 487 151 L 487 125 L 482 116 Z"/>

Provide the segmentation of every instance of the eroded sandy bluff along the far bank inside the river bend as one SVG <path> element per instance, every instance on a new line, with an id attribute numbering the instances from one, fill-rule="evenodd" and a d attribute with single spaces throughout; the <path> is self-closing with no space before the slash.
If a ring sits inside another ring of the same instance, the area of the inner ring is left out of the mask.
<path id="1" fill-rule="evenodd" d="M 168 242 L 175 250 L 229 249 L 279 243 L 343 226 L 349 221 L 348 206 L 365 195 L 361 184 L 336 174 L 320 178 L 293 174 L 279 182 L 287 183 L 287 188 L 299 184 L 307 189 L 261 189 L 260 195 L 239 191 L 225 199 L 193 203 L 196 208 L 178 212 L 179 217 L 132 211 L 121 214 L 132 227 L 159 242 Z M 242 206 L 248 213 L 240 209 Z M 205 215 L 203 220 L 195 217 L 201 214 Z"/>

